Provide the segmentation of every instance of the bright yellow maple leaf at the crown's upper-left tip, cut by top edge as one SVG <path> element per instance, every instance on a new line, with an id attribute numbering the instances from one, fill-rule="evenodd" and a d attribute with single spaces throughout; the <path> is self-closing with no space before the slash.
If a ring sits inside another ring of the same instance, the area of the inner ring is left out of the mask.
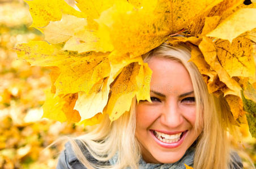
<path id="1" fill-rule="evenodd" d="M 63 0 L 33 0 L 25 1 L 33 18 L 32 27 L 44 27 L 50 21 L 61 20 L 62 14 L 85 17 L 82 12 L 76 11 Z"/>

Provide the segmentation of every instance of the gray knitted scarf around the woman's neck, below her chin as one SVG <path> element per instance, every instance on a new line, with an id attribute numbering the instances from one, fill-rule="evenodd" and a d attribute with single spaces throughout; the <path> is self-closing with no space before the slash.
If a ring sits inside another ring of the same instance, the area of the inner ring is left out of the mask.
<path id="1" fill-rule="evenodd" d="M 139 169 L 185 169 L 185 164 L 187 166 L 193 167 L 194 164 L 194 155 L 195 155 L 195 149 L 194 148 L 189 148 L 184 156 L 177 161 L 176 163 L 169 163 L 169 164 L 158 164 L 158 163 L 147 163 L 145 162 L 142 158 L 140 158 L 139 161 Z M 114 155 L 113 158 L 109 160 L 110 164 L 114 165 L 116 164 L 118 159 L 118 153 Z M 130 167 L 127 167 L 126 169 L 129 169 Z"/>

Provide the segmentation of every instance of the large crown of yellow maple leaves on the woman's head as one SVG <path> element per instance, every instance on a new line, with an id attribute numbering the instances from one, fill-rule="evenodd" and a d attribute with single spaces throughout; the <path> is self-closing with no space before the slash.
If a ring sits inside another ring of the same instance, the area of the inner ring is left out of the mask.
<path id="1" fill-rule="evenodd" d="M 255 136 L 256 9 L 243 2 L 77 0 L 76 10 L 63 0 L 27 1 L 45 41 L 15 50 L 52 70 L 43 117 L 88 125 L 116 120 L 135 96 L 150 100 L 142 55 L 163 42 L 186 43 L 210 93 L 223 95 L 234 121 L 248 121 Z"/>

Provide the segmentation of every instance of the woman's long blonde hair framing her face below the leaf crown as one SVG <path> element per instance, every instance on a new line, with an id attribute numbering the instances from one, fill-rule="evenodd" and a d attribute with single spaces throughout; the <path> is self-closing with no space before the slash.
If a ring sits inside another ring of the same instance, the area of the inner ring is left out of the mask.
<path id="1" fill-rule="evenodd" d="M 197 139 L 194 168 L 229 168 L 231 146 L 227 138 L 227 130 L 232 128 L 231 121 L 229 121 L 232 117 L 223 96 L 217 98 L 208 94 L 207 86 L 197 66 L 189 61 L 191 55 L 186 46 L 170 46 L 164 43 L 145 54 L 144 62 L 150 60 L 151 57 L 176 60 L 182 63 L 190 74 L 197 107 L 195 127 L 198 130 L 203 128 Z M 97 166 L 90 163 L 76 141 L 71 140 L 72 148 L 84 166 L 87 168 L 125 168 L 128 166 L 138 168 L 140 148 L 135 138 L 135 106 L 136 100 L 133 99 L 130 112 L 124 113 L 112 123 L 106 118 L 103 123 L 87 134 L 76 138 L 98 161 L 108 161 L 118 152 L 118 160 L 114 166 Z"/>

